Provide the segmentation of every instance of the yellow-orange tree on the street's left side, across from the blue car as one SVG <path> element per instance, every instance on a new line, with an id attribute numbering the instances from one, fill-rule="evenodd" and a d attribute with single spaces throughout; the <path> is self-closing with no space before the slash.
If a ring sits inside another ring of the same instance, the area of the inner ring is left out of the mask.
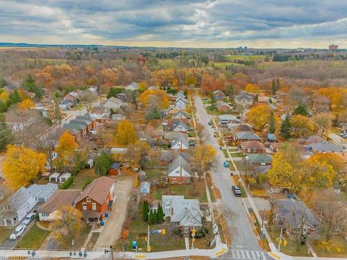
<path id="1" fill-rule="evenodd" d="M 216 155 L 216 150 L 208 144 L 201 144 L 195 148 L 194 163 L 199 178 L 212 169 Z"/>

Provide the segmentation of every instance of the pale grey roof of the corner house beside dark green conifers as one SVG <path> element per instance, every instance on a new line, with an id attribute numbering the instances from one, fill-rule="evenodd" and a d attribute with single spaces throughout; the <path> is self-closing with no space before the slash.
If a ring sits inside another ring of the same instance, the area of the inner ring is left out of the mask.
<path id="1" fill-rule="evenodd" d="M 181 227 L 201 227 L 201 211 L 198 200 L 174 198 L 172 200 L 171 222 L 179 222 Z"/>

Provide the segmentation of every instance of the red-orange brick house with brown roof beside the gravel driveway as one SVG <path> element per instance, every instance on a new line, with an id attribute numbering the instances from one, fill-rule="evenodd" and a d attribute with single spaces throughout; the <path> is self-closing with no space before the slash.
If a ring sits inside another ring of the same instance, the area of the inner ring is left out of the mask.
<path id="1" fill-rule="evenodd" d="M 115 180 L 112 177 L 94 179 L 75 201 L 75 207 L 85 220 L 103 220 L 114 200 Z"/>

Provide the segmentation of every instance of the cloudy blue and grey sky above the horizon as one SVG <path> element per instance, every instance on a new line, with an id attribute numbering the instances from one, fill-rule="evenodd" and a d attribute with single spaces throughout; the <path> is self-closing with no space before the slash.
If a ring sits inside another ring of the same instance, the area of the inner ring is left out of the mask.
<path id="1" fill-rule="evenodd" d="M 0 42 L 347 48 L 347 0 L 0 0 Z"/>

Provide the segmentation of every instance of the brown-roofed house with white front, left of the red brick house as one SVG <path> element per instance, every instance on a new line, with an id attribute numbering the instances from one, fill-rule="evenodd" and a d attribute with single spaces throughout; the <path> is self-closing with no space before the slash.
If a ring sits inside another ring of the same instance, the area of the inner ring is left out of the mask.
<path id="1" fill-rule="evenodd" d="M 58 189 L 38 210 L 40 221 L 54 221 L 60 216 L 63 206 L 73 206 L 81 194 L 81 189 Z"/>

